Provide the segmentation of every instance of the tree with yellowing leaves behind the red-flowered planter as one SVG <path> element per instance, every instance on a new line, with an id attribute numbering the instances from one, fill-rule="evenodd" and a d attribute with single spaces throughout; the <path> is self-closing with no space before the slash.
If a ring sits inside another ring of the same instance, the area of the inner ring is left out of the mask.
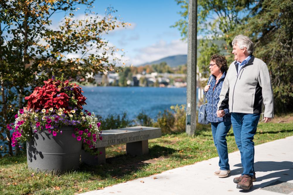
<path id="1" fill-rule="evenodd" d="M 6 124 L 25 105 L 24 97 L 52 72 L 92 83 L 95 74 L 114 70 L 117 48 L 109 46 L 102 35 L 130 24 L 117 20 L 113 8 L 100 17 L 92 4 L 91 0 L 0 2 L 0 138 L 8 146 L 2 152 L 13 154 Z M 77 15 L 78 6 L 87 7 L 82 17 Z M 52 16 L 61 14 L 59 25 L 53 25 Z"/>

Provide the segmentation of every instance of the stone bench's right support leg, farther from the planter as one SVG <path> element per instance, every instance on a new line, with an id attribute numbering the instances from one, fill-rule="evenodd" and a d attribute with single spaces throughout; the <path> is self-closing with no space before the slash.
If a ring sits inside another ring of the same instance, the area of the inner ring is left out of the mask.
<path id="1" fill-rule="evenodd" d="M 149 140 L 126 143 L 126 153 L 132 156 L 149 153 Z"/>

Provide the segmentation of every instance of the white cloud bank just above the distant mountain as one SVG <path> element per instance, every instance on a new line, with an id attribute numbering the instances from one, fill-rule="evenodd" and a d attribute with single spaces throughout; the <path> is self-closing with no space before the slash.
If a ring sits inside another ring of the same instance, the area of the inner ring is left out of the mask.
<path id="1" fill-rule="evenodd" d="M 134 57 L 127 57 L 130 59 L 127 64 L 140 65 L 168 56 L 187 54 L 187 43 L 182 40 L 171 42 L 160 40 L 151 46 L 139 49 L 138 52 L 139 54 Z"/>

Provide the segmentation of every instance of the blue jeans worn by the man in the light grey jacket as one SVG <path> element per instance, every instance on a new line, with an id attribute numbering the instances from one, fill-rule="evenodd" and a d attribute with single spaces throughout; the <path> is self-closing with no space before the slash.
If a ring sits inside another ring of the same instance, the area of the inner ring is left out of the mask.
<path id="1" fill-rule="evenodd" d="M 242 175 L 253 177 L 254 172 L 254 142 L 253 136 L 260 114 L 231 113 L 231 122 L 235 136 L 236 145 L 241 154 Z"/>

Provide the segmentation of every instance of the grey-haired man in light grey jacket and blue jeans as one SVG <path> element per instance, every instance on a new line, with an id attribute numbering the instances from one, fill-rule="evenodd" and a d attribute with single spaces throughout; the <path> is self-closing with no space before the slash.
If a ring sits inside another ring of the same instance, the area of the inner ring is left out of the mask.
<path id="1" fill-rule="evenodd" d="M 229 66 L 218 103 L 217 116 L 229 106 L 235 141 L 241 154 L 243 173 L 235 177 L 236 188 L 249 190 L 255 178 L 253 136 L 265 105 L 264 121 L 273 117 L 273 94 L 267 65 L 253 54 L 253 42 L 244 35 L 232 41 L 234 62 Z"/>

